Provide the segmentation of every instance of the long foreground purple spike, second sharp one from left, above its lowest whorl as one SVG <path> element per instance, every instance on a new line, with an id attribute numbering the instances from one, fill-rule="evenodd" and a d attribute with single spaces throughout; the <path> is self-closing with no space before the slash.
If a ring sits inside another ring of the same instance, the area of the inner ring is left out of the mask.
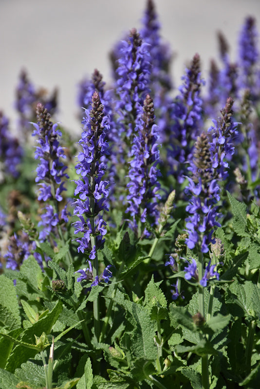
<path id="1" fill-rule="evenodd" d="M 81 176 L 75 180 L 74 215 L 78 221 L 74 223 L 74 233 L 80 232 L 76 238 L 79 244 L 78 252 L 89 252 L 89 258 L 96 257 L 96 250 L 104 243 L 106 222 L 102 211 L 108 211 L 108 181 L 102 179 L 107 169 L 107 154 L 109 144 L 106 134 L 110 129 L 108 117 L 103 112 L 104 106 L 100 102 L 97 91 L 93 93 L 92 109 L 86 109 L 83 119 L 84 129 L 79 144 L 82 151 L 78 154 L 75 166 L 76 173 Z M 94 237 L 95 244 L 92 243 Z"/>

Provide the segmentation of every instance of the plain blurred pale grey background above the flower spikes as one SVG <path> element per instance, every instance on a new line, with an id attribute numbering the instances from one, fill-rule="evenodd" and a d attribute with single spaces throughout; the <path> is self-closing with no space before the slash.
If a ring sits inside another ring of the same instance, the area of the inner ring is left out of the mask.
<path id="1" fill-rule="evenodd" d="M 226 36 L 233 61 L 238 33 L 246 16 L 257 19 L 260 0 L 154 0 L 161 35 L 174 54 L 176 87 L 194 53 L 218 57 L 217 31 Z M 76 86 L 97 68 L 111 80 L 109 52 L 132 27 L 141 25 L 147 0 L 0 0 L 0 110 L 15 127 L 15 88 L 21 69 L 36 87 L 59 89 L 57 120 L 80 133 L 76 119 Z"/>

